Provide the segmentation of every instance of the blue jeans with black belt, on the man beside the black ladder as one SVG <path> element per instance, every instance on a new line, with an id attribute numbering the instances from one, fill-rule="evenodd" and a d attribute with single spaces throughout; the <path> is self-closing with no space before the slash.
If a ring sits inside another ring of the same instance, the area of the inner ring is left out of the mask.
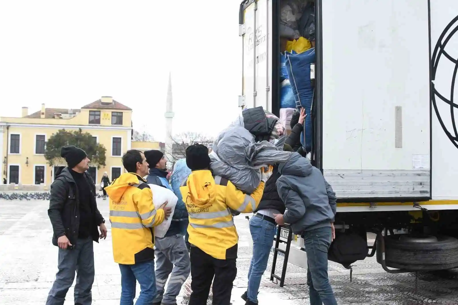
<path id="1" fill-rule="evenodd" d="M 248 270 L 247 297 L 257 303 L 257 294 L 262 274 L 266 271 L 270 249 L 275 236 L 275 224 L 253 216 L 250 219 L 250 232 L 253 239 L 253 256 Z"/>

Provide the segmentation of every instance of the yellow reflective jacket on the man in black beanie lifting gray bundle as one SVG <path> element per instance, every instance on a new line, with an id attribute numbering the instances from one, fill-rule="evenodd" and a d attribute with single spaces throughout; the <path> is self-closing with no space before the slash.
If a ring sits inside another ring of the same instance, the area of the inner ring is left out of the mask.
<path id="1" fill-rule="evenodd" d="M 229 208 L 251 213 L 261 201 L 264 182 L 245 195 L 209 170 L 193 171 L 180 186 L 189 213 L 189 242 L 217 259 L 237 258 L 239 236 Z M 192 250 L 191 250 L 192 251 Z"/>

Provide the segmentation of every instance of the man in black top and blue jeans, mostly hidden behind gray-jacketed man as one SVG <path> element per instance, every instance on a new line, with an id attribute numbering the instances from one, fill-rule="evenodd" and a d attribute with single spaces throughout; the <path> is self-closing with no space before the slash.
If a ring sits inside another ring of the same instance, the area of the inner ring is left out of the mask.
<path id="1" fill-rule="evenodd" d="M 288 144 L 283 147 L 284 151 L 292 152 L 293 148 Z M 250 232 L 253 239 L 253 256 L 251 257 L 250 269 L 248 270 L 248 288 L 242 295 L 245 305 L 256 305 L 259 284 L 262 274 L 266 271 L 275 236 L 274 214 L 285 212 L 285 205 L 278 195 L 277 179 L 280 177 L 278 166 L 273 167 L 273 174 L 267 180 L 261 202 L 250 219 Z"/>

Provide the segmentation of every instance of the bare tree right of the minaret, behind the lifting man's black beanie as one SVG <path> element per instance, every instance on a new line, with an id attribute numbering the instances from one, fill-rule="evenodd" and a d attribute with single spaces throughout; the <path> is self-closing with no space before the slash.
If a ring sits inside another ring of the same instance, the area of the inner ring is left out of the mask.
<path id="1" fill-rule="evenodd" d="M 211 150 L 213 146 L 213 141 L 214 139 L 210 136 L 204 135 L 202 133 L 198 132 L 182 132 L 180 134 L 177 134 L 175 136 L 171 137 L 172 139 L 172 147 L 168 147 L 170 151 L 172 152 L 171 154 L 167 154 L 167 157 L 169 158 L 170 161 L 175 163 L 175 161 L 185 158 L 185 151 L 188 146 L 191 146 L 192 144 L 203 144 Z"/>

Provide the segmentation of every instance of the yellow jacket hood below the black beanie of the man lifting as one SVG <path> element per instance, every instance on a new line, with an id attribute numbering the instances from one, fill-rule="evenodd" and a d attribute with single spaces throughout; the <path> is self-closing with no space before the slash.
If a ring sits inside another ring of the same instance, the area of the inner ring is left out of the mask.
<path id="1" fill-rule="evenodd" d="M 186 182 L 192 202 L 197 207 L 206 208 L 215 200 L 215 180 L 209 170 L 193 171 Z"/>

